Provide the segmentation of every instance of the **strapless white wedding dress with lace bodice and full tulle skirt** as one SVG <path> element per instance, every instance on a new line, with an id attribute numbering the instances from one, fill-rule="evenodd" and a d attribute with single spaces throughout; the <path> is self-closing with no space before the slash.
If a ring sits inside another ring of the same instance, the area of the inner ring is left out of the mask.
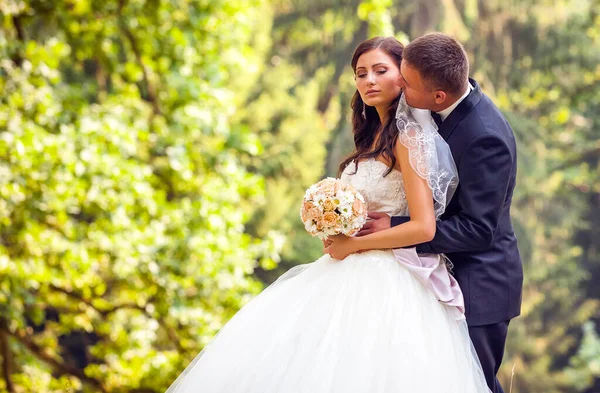
<path id="1" fill-rule="evenodd" d="M 376 160 L 342 175 L 368 210 L 406 215 L 402 174 Z M 400 263 L 412 249 L 324 255 L 240 310 L 168 393 L 489 392 L 464 317 Z M 444 263 L 442 258 L 436 261 Z"/>

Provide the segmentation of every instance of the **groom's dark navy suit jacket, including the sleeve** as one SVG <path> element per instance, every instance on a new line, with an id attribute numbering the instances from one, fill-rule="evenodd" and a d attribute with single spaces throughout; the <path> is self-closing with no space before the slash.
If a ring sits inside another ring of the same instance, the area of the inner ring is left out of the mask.
<path id="1" fill-rule="evenodd" d="M 454 264 L 470 326 L 516 317 L 523 268 L 510 220 L 517 150 L 510 125 L 492 101 L 474 89 L 439 127 L 458 168 L 459 186 L 419 253 L 444 253 Z M 409 217 L 392 217 L 392 225 Z"/>

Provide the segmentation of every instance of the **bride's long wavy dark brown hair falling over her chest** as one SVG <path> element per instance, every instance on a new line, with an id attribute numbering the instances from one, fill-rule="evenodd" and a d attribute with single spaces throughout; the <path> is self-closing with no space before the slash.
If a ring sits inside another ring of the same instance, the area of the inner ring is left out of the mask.
<path id="1" fill-rule="evenodd" d="M 361 55 L 374 49 L 383 50 L 392 58 L 398 69 L 402 63 L 402 52 L 404 45 L 393 37 L 375 37 L 363 41 L 352 55 L 352 69 L 356 77 L 356 64 Z M 391 102 L 390 108 L 386 116 L 386 123 L 381 127 L 381 120 L 375 107 L 365 105 L 358 90 L 352 97 L 352 133 L 354 134 L 354 151 L 340 164 L 338 169 L 338 177 L 344 169 L 354 161 L 355 165 L 358 162 L 368 158 L 382 157 L 389 162 L 389 168 L 385 175 L 388 175 L 396 165 L 396 157 L 394 156 L 394 146 L 398 140 L 398 128 L 395 123 L 396 108 L 398 100 L 396 97 Z M 363 118 L 363 108 L 365 108 L 366 119 Z M 377 132 L 381 127 L 381 135 L 377 138 Z M 356 167 L 355 167 L 356 168 Z"/>

